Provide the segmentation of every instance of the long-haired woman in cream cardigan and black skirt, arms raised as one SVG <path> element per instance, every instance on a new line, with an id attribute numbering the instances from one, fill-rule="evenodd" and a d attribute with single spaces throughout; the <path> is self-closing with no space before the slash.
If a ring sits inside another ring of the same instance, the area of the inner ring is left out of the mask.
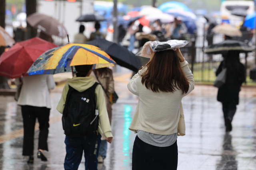
<path id="1" fill-rule="evenodd" d="M 185 135 L 181 100 L 194 89 L 193 74 L 180 49 L 150 51 L 148 64 L 127 85 L 139 96 L 129 127 L 137 133 L 132 170 L 177 170 L 177 136 Z"/>

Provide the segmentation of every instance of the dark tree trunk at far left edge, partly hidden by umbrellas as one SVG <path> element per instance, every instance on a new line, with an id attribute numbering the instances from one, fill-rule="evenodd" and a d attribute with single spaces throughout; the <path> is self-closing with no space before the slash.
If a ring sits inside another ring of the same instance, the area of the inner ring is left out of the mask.
<path id="1" fill-rule="evenodd" d="M 0 26 L 5 28 L 5 0 L 0 0 Z M 5 47 L 0 47 L 0 55 L 4 52 Z M 9 89 L 8 78 L 0 76 L 0 88 Z"/>

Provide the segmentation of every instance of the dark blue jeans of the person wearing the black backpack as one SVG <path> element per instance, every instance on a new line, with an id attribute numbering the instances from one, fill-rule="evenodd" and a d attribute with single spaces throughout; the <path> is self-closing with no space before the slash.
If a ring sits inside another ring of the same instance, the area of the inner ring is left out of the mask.
<path id="1" fill-rule="evenodd" d="M 85 158 L 86 170 L 97 170 L 98 154 L 101 143 L 101 135 L 93 132 L 89 137 L 67 137 L 66 144 L 66 157 L 64 161 L 65 170 L 77 170 L 82 160 L 83 151 Z M 96 146 L 98 141 L 98 146 Z M 96 152 L 95 149 L 97 148 Z"/>

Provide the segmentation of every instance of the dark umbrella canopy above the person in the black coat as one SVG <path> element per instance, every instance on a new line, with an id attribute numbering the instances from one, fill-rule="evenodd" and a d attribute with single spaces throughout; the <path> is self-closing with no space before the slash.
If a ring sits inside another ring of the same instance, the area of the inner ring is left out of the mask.
<path id="1" fill-rule="evenodd" d="M 225 54 L 227 51 L 240 51 L 240 53 L 247 53 L 254 51 L 246 43 L 237 40 L 225 40 L 218 44 L 212 44 L 205 53 L 208 54 Z"/>

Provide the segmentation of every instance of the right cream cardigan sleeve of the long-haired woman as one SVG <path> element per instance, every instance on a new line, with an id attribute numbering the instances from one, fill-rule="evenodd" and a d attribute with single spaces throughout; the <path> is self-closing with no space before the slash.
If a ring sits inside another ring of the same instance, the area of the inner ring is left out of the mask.
<path id="1" fill-rule="evenodd" d="M 186 76 L 186 78 L 188 79 L 188 82 L 189 82 L 188 92 L 186 94 L 184 94 L 184 96 L 186 96 L 192 90 L 194 90 L 195 82 L 194 82 L 193 74 L 192 74 L 191 70 L 188 67 L 188 62 L 186 60 L 184 60 L 182 63 L 180 63 L 180 66 L 181 66 L 182 71 L 184 72 L 184 74 L 185 74 L 185 76 Z"/>

